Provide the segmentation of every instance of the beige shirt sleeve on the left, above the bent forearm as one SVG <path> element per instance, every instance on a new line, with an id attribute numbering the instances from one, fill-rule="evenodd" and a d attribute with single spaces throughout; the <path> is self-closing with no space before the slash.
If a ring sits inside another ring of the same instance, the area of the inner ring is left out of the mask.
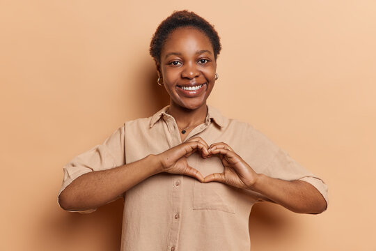
<path id="1" fill-rule="evenodd" d="M 104 140 L 103 144 L 94 146 L 92 149 L 70 160 L 70 162 L 63 167 L 64 178 L 58 196 L 72 181 L 83 174 L 125 165 L 124 135 L 125 124 Z M 96 208 L 74 212 L 91 213 L 95 210 Z"/>

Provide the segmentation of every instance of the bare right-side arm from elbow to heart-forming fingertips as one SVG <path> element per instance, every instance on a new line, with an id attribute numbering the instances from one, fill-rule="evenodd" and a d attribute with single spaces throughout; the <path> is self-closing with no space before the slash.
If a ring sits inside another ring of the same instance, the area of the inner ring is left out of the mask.
<path id="1" fill-rule="evenodd" d="M 256 174 L 227 144 L 213 144 L 209 153 L 219 155 L 224 164 L 224 172 L 210 174 L 205 177 L 204 182 L 219 181 L 252 190 L 297 213 L 322 213 L 327 208 L 324 197 L 310 183 L 283 181 L 265 174 Z"/>

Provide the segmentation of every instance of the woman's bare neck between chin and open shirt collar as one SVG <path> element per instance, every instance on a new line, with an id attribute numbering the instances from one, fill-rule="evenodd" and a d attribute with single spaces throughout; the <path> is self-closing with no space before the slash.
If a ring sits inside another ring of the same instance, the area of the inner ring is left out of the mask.
<path id="1" fill-rule="evenodd" d="M 184 129 L 204 123 L 207 115 L 207 107 L 205 103 L 201 107 L 191 110 L 171 103 L 169 114 L 175 119 L 178 128 Z"/>

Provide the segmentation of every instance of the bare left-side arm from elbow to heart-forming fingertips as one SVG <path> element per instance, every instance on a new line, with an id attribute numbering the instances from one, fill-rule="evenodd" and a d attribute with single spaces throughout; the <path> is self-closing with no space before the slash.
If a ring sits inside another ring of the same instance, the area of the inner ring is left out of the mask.
<path id="1" fill-rule="evenodd" d="M 69 211 L 97 208 L 161 172 L 183 174 L 203 181 L 203 176 L 189 167 L 187 162 L 187 157 L 195 151 L 207 155 L 207 145 L 202 139 L 191 139 L 163 153 L 148 155 L 127 165 L 83 174 L 61 192 L 59 204 Z"/>

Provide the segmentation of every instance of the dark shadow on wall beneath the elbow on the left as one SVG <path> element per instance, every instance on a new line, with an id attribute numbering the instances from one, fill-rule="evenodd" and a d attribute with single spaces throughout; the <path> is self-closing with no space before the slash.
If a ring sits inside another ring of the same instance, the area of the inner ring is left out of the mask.
<path id="1" fill-rule="evenodd" d="M 65 212 L 57 205 L 53 209 L 58 213 L 44 212 L 43 222 L 37 225 L 39 229 L 29 233 L 35 235 L 30 250 L 120 250 L 123 199 L 87 214 Z"/>

